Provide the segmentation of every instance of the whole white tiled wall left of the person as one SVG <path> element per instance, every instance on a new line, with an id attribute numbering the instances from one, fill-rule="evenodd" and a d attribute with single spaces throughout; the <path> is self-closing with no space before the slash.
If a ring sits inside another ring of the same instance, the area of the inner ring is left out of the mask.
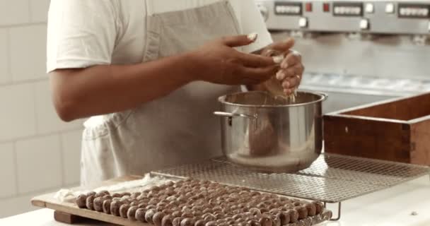
<path id="1" fill-rule="evenodd" d="M 0 218 L 79 184 L 82 121 L 59 120 L 45 73 L 49 4 L 0 1 Z"/>

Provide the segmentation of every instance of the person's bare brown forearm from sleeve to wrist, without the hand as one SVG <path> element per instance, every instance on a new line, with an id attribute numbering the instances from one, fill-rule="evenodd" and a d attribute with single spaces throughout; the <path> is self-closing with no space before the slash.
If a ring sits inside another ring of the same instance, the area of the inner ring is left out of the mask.
<path id="1" fill-rule="evenodd" d="M 54 103 L 65 121 L 121 112 L 193 81 L 192 65 L 182 54 L 143 64 L 54 71 Z"/>

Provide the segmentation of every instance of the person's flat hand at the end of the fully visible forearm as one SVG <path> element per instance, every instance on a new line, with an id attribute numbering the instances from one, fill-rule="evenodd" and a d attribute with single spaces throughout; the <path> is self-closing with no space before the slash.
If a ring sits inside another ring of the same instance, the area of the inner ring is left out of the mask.
<path id="1" fill-rule="evenodd" d="M 279 70 L 272 57 L 245 54 L 234 47 L 255 42 L 256 35 L 222 37 L 192 52 L 194 79 L 226 85 L 252 85 L 267 81 Z"/>

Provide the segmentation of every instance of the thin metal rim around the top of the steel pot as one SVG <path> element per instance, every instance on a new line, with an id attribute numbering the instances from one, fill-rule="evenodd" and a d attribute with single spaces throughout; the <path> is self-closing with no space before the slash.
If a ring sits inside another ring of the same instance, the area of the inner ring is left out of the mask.
<path id="1" fill-rule="evenodd" d="M 221 97 L 218 97 L 218 101 L 223 105 L 229 105 L 229 106 L 236 106 L 236 107 L 262 107 L 262 108 L 278 108 L 278 107 L 301 107 L 306 105 L 312 105 L 318 102 L 323 102 L 327 100 L 327 94 L 320 93 L 320 92 L 309 92 L 309 91 L 297 91 L 298 93 L 308 93 L 312 95 L 318 95 L 320 96 L 320 99 L 314 100 L 311 102 L 306 103 L 300 103 L 300 104 L 292 104 L 292 105 L 243 105 L 243 104 L 234 104 L 232 102 L 226 102 L 226 97 L 228 95 L 238 95 L 240 93 L 266 93 L 265 91 L 247 91 L 247 92 L 236 92 L 236 93 L 230 93 L 227 95 L 223 95 Z"/>

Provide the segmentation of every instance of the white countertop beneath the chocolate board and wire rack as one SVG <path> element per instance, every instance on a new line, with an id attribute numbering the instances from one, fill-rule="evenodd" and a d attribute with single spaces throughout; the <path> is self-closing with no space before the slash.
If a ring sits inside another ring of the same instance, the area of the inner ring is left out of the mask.
<path id="1" fill-rule="evenodd" d="M 327 206 L 337 216 L 337 206 Z M 412 215 L 412 212 L 417 215 Z M 1 226 L 66 225 L 54 221 L 53 210 L 35 210 L 0 220 Z M 88 221 L 79 225 L 106 225 L 103 222 Z M 430 225 L 430 177 L 421 177 L 412 182 L 373 194 L 353 198 L 342 203 L 342 218 L 337 222 L 325 222 L 320 226 L 397 226 Z"/>

